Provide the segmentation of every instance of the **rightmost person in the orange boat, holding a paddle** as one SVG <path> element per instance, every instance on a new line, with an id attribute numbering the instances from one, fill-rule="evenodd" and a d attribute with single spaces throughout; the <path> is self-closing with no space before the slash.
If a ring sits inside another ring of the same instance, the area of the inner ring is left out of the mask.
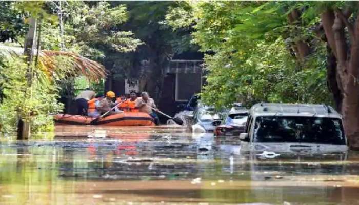
<path id="1" fill-rule="evenodd" d="M 156 104 L 154 104 L 154 100 L 149 97 L 147 92 L 142 92 L 141 97 L 135 99 L 135 108 L 139 110 L 139 112 L 145 112 L 149 114 L 156 125 L 159 125 L 159 118 L 154 111 L 158 111 Z M 153 108 L 153 109 L 152 109 Z"/>

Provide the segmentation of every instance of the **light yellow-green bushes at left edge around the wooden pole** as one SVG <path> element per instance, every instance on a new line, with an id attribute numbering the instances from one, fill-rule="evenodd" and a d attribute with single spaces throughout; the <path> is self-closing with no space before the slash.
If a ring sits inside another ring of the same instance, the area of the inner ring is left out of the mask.
<path id="1" fill-rule="evenodd" d="M 53 130 L 51 113 L 61 111 L 62 105 L 58 104 L 56 89 L 51 81 L 39 80 L 41 73 L 35 73 L 34 83 L 29 91 L 26 91 L 26 73 L 28 66 L 22 57 L 2 56 L 0 58 L 0 90 L 2 101 L 0 104 L 0 126 L 2 133 L 16 131 L 20 118 L 32 121 L 32 132 L 44 132 Z M 30 116 L 27 114 L 30 113 Z"/>

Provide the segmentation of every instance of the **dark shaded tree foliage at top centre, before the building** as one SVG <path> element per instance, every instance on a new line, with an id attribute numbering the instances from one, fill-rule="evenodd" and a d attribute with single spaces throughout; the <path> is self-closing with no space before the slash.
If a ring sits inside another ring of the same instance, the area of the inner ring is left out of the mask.
<path id="1" fill-rule="evenodd" d="M 196 46 L 190 45 L 188 29 L 173 31 L 168 25 L 163 24 L 167 8 L 174 6 L 175 2 L 128 1 L 110 2 L 110 4 L 109 8 L 126 4 L 128 20 L 118 26 L 118 29 L 132 31 L 134 37 L 144 43 L 138 46 L 135 52 L 127 53 L 113 52 L 111 48 L 97 45 L 96 48 L 104 51 L 106 57 L 101 61 L 112 72 L 114 79 L 148 79 L 151 83 L 158 83 L 157 86 L 161 86 L 159 85 L 161 70 L 167 66 L 168 60 L 173 55 L 198 50 Z M 144 62 L 148 64 L 144 66 Z"/>

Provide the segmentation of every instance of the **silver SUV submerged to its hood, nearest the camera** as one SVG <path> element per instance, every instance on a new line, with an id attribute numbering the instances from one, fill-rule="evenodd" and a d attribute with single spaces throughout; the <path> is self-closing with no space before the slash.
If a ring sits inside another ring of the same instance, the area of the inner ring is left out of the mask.
<path id="1" fill-rule="evenodd" d="M 250 109 L 241 151 L 344 152 L 342 117 L 332 107 L 256 104 Z"/>

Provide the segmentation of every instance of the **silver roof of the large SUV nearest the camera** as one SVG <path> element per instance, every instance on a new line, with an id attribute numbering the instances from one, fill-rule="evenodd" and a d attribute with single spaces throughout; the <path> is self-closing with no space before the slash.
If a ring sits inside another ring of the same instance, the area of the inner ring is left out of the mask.
<path id="1" fill-rule="evenodd" d="M 252 116 L 316 116 L 341 118 L 332 107 L 318 104 L 260 103 L 250 109 Z"/>

